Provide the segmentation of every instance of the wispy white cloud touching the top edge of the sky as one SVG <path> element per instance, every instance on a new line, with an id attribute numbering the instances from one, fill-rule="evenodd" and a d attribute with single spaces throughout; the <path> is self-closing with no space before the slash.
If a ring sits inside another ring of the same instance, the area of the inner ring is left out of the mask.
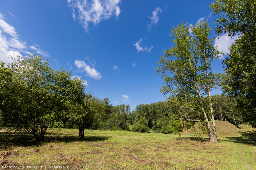
<path id="1" fill-rule="evenodd" d="M 120 14 L 118 6 L 121 0 L 68 0 L 68 6 L 72 8 L 72 16 L 75 20 L 75 10 L 78 10 L 78 19 L 85 32 L 89 33 L 89 23 L 98 24 L 102 19 L 109 19 L 112 15 Z"/>

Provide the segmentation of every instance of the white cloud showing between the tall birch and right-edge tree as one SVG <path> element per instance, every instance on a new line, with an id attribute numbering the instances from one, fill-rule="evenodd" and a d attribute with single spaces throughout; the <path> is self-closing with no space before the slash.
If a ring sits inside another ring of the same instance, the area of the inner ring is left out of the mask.
<path id="1" fill-rule="evenodd" d="M 228 34 L 223 34 L 222 36 L 216 37 L 214 41 L 214 46 L 219 48 L 219 51 L 222 51 L 225 54 L 229 53 L 228 48 L 231 47 L 231 45 L 235 42 L 235 40 L 238 39 L 238 36 L 233 36 L 232 38 L 228 36 Z M 220 59 L 222 59 L 220 57 Z"/>

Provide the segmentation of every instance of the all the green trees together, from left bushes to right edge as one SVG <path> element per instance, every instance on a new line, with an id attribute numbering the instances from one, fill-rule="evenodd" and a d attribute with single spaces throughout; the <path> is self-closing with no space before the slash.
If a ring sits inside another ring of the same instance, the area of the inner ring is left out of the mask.
<path id="1" fill-rule="evenodd" d="M 0 129 L 31 133 L 44 139 L 49 128 L 132 130 L 134 132 L 180 133 L 199 122 L 211 142 L 217 142 L 215 120 L 235 126 L 256 127 L 256 3 L 217 0 L 210 8 L 216 18 L 216 36 L 228 33 L 238 39 L 223 60 L 224 74 L 211 64 L 223 55 L 210 37 L 208 21 L 189 27 L 173 27 L 173 46 L 165 50 L 156 66 L 166 101 L 113 106 L 108 97 L 86 91 L 83 80 L 71 72 L 53 70 L 37 54 L 17 56 L 0 64 Z M 11 57 L 11 56 L 10 56 Z M 211 95 L 222 88 L 223 94 Z"/>

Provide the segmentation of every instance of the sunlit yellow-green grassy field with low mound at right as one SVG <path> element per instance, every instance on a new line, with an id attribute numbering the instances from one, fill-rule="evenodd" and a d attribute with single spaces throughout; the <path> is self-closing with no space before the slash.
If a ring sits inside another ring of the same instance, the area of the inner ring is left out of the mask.
<path id="1" fill-rule="evenodd" d="M 24 134 L 0 132 L 0 169 L 256 169 L 253 131 L 216 121 L 218 143 L 198 142 L 192 136 L 131 131 L 49 130 L 46 141 L 34 143 Z M 207 139 L 206 139 L 207 140 Z M 52 147 L 51 147 L 52 146 Z"/>

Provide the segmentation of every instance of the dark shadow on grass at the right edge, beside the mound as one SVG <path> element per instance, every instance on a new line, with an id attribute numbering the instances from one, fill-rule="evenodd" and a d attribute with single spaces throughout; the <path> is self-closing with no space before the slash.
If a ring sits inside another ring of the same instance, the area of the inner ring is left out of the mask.
<path id="1" fill-rule="evenodd" d="M 234 142 L 239 144 L 251 144 L 256 145 L 256 138 L 250 137 L 245 132 L 238 132 L 241 134 L 240 137 L 227 136 L 222 141 Z"/>

